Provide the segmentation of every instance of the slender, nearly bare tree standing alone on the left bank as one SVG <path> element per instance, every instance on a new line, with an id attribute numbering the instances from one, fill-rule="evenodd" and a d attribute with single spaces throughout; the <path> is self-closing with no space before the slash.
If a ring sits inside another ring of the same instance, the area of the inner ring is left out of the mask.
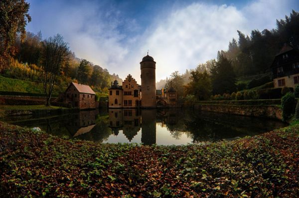
<path id="1" fill-rule="evenodd" d="M 50 105 L 51 94 L 56 76 L 61 73 L 69 54 L 68 44 L 57 34 L 42 42 L 41 66 L 43 68 L 43 87 L 46 94 L 46 105 Z"/>

